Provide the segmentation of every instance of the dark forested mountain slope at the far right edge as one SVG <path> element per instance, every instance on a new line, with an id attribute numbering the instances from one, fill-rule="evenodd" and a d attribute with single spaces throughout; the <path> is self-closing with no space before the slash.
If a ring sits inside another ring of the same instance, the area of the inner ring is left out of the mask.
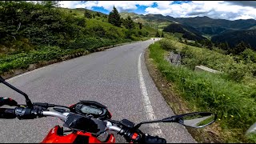
<path id="1" fill-rule="evenodd" d="M 211 41 L 228 42 L 230 47 L 236 46 L 239 42 L 246 42 L 256 50 L 256 30 L 231 30 L 212 37 Z"/>

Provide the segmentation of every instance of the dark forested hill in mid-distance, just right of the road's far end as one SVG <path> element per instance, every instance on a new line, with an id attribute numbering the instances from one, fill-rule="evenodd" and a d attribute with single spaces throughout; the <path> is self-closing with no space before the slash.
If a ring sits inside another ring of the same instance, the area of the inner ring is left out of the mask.
<path id="1" fill-rule="evenodd" d="M 182 38 L 200 41 L 206 39 L 202 37 L 202 33 L 192 26 L 182 25 L 180 23 L 171 23 L 169 26 L 166 26 L 163 31 L 170 33 L 180 33 L 182 34 Z"/>

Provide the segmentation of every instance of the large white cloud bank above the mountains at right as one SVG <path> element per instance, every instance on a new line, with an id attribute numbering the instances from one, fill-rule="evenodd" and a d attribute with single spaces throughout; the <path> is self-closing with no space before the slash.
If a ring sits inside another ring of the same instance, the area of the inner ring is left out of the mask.
<path id="1" fill-rule="evenodd" d="M 178 17 L 208 16 L 229 20 L 256 18 L 256 9 L 250 6 L 234 5 L 224 1 L 192 1 L 163 7 L 148 7 L 146 14 L 163 14 Z"/>

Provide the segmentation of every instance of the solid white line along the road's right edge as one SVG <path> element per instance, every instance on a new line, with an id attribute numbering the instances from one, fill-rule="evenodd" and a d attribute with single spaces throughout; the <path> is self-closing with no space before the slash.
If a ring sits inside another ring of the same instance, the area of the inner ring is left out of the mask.
<path id="1" fill-rule="evenodd" d="M 139 78 L 140 88 L 142 90 L 144 108 L 146 110 L 147 118 L 149 120 L 155 120 L 154 110 L 153 110 L 153 107 L 151 106 L 150 98 L 147 94 L 146 85 L 142 75 L 141 56 L 142 54 L 140 54 L 138 57 L 138 78 Z M 154 135 L 163 136 L 162 130 L 160 129 L 160 126 L 158 125 L 158 123 L 152 123 L 150 124 L 150 126 L 154 128 L 154 131 L 152 131 Z"/>

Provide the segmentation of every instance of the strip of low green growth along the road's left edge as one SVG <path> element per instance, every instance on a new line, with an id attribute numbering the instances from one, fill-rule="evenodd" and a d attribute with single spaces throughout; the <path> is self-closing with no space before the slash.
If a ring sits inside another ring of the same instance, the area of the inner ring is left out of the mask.
<path id="1" fill-rule="evenodd" d="M 145 38 L 147 39 L 147 38 Z M 127 41 L 130 42 L 130 41 Z M 111 44 L 111 45 L 110 45 Z M 30 50 L 29 52 L 23 52 L 19 54 L 0 54 L 0 74 L 3 77 L 10 78 L 15 75 L 14 70 L 26 72 L 30 70 L 30 65 L 35 65 L 34 68 L 46 66 L 54 62 L 61 62 L 66 59 L 76 58 L 91 52 L 105 50 L 113 46 L 119 46 L 126 44 L 124 42 L 113 42 L 105 45 L 94 46 L 94 49 L 90 47 L 81 49 L 67 49 L 63 50 L 59 46 L 41 46 L 36 50 Z M 101 47 L 99 47 L 101 46 Z M 104 47 L 102 47 L 104 46 Z M 90 51 L 89 51 L 90 50 Z M 18 73 L 20 74 L 20 72 Z"/>

